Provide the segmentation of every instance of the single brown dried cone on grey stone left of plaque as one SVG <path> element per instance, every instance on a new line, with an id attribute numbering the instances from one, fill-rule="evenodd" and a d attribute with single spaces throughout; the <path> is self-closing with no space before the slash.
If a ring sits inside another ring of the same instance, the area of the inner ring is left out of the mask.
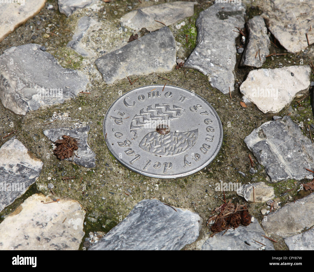
<path id="1" fill-rule="evenodd" d="M 78 149 L 77 139 L 67 135 L 63 135 L 62 138 L 61 140 L 55 141 L 57 148 L 53 151 L 61 160 L 73 157 L 73 151 Z"/>

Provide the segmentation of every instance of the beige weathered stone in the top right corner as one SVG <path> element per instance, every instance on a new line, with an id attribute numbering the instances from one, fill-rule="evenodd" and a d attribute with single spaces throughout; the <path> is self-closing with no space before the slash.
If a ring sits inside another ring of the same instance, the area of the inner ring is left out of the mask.
<path id="1" fill-rule="evenodd" d="M 314 32 L 310 30 L 314 21 L 313 1 L 273 0 L 263 4 L 262 16 L 269 30 L 289 52 L 296 53 L 308 46 L 306 33 L 310 45 L 314 42 Z"/>

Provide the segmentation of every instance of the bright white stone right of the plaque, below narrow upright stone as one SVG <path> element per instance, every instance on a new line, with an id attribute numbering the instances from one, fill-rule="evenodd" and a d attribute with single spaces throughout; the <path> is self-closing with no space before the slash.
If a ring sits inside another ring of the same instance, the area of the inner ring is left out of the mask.
<path id="1" fill-rule="evenodd" d="M 250 100 L 263 113 L 277 113 L 296 95 L 308 92 L 310 75 L 309 65 L 252 70 L 240 91 L 244 101 Z"/>

